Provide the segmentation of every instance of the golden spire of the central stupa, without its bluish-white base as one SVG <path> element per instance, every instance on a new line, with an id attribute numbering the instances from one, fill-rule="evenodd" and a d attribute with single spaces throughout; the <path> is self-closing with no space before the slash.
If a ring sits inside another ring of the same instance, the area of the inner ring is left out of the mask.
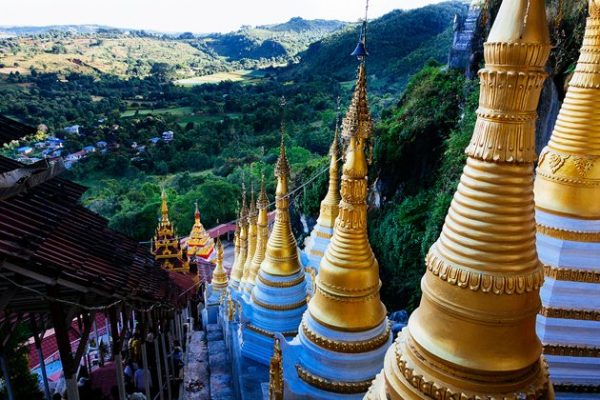
<path id="1" fill-rule="evenodd" d="M 316 277 L 316 291 L 308 305 L 311 316 L 341 331 L 365 331 L 386 316 L 379 299 L 379 265 L 367 236 L 367 159 L 371 137 L 364 61 L 352 103 L 343 121 L 342 136 L 349 141 L 342 168 L 339 216 Z"/>

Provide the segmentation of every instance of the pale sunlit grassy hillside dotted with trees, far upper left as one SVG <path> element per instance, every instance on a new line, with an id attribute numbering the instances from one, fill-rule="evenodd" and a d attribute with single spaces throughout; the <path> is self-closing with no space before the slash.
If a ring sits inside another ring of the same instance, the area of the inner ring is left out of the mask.
<path id="1" fill-rule="evenodd" d="M 160 38 L 121 36 L 20 37 L 0 41 L 0 74 L 19 72 L 147 76 L 156 63 L 173 67 L 175 77 L 194 76 L 218 62 L 189 43 Z"/>

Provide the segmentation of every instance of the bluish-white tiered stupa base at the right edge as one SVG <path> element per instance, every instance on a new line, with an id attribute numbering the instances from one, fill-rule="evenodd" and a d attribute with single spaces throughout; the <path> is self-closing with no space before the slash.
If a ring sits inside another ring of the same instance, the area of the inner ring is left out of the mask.
<path id="1" fill-rule="evenodd" d="M 565 231 L 600 232 L 600 220 L 559 217 L 538 210 L 536 221 Z M 552 268 L 600 272 L 600 243 L 576 242 L 538 233 L 537 250 L 540 261 Z M 546 276 L 540 297 L 545 309 L 598 311 L 600 283 L 557 280 Z M 600 321 L 538 315 L 536 329 L 545 346 L 562 347 L 568 354 L 545 355 L 550 367 L 550 378 L 555 385 L 600 386 L 600 358 L 572 356 L 577 354 L 576 348 L 586 348 L 588 351 L 600 348 Z M 585 351 L 582 350 L 580 354 L 585 355 Z M 579 394 L 561 394 L 557 398 L 584 397 Z"/>

